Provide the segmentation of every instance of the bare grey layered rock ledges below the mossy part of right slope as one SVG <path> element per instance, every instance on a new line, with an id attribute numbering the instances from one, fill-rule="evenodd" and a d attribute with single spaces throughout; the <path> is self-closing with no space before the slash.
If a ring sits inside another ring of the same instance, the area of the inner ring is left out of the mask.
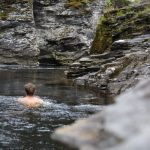
<path id="1" fill-rule="evenodd" d="M 91 69 L 89 72 L 82 74 L 95 72 L 94 76 L 87 74 L 89 78 L 83 78 L 84 86 L 92 88 L 95 86 L 100 91 L 105 90 L 112 95 L 118 95 L 135 85 L 140 79 L 149 77 L 147 69 L 150 63 L 149 37 L 150 35 L 147 34 L 132 39 L 119 40 L 114 42 L 112 51 L 91 55 L 91 62 L 84 67 L 90 70 L 90 66 L 95 66 L 97 70 Z M 124 48 L 124 45 L 126 48 Z M 74 69 L 70 68 L 68 73 L 69 76 L 72 76 Z M 76 69 L 76 73 L 79 77 L 81 69 Z M 77 85 L 78 83 L 76 82 Z"/>

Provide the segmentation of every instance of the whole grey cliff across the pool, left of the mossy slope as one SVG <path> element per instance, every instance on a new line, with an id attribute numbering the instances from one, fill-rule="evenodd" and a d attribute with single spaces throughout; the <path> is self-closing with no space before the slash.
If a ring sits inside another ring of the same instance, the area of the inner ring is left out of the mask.
<path id="1" fill-rule="evenodd" d="M 103 0 L 2 0 L 0 63 L 68 64 L 87 55 Z"/>

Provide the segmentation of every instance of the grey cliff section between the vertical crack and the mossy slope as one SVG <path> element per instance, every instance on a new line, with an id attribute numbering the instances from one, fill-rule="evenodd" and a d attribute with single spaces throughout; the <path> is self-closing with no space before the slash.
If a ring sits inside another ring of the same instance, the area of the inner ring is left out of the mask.
<path id="1" fill-rule="evenodd" d="M 87 55 L 103 3 L 34 0 L 40 62 L 69 64 Z"/>

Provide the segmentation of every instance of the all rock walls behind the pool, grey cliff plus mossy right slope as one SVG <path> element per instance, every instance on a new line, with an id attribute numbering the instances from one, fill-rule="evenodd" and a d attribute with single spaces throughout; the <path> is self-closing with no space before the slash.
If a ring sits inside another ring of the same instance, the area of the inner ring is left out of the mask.
<path id="1" fill-rule="evenodd" d="M 0 63 L 67 64 L 77 85 L 114 95 L 149 77 L 149 2 L 101 16 L 104 2 L 2 0 Z"/>

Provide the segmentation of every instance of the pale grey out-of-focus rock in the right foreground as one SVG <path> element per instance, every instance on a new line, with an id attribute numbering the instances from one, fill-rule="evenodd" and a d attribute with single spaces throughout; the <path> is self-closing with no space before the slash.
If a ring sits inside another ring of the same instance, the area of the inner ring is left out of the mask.
<path id="1" fill-rule="evenodd" d="M 150 80 L 88 119 L 57 129 L 53 138 L 80 150 L 150 149 Z"/>

